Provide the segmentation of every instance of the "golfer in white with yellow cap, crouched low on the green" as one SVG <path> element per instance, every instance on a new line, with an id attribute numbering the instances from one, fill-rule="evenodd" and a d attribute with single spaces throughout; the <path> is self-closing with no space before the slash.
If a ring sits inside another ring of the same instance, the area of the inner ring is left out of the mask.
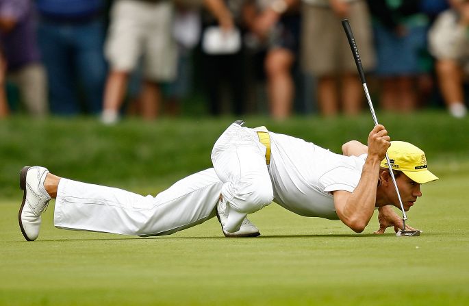
<path id="1" fill-rule="evenodd" d="M 242 124 L 231 124 L 216 141 L 214 168 L 181 179 L 157 196 L 72 181 L 43 167 L 24 167 L 21 231 L 26 240 L 36 240 L 40 215 L 49 200 L 56 199 L 54 225 L 61 229 L 168 235 L 218 216 L 225 236 L 252 237 L 259 230 L 247 214 L 274 200 L 301 216 L 340 219 L 357 233 L 378 207 L 376 233 L 384 233 L 388 227 L 402 226 L 391 207 L 400 206 L 385 164 L 386 151 L 406 211 L 422 196 L 420 184 L 438 179 L 427 169 L 423 151 L 407 142 L 390 142 L 382 125 L 372 129 L 368 146 L 353 140 L 339 155 L 265 127 Z"/>

